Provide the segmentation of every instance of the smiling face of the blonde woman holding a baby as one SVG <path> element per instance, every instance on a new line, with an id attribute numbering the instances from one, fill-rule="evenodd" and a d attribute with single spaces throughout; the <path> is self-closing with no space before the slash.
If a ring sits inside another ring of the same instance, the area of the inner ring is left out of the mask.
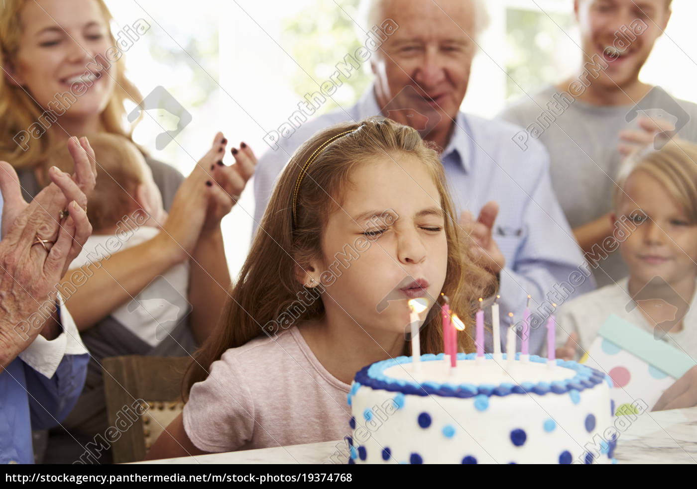
<path id="1" fill-rule="evenodd" d="M 94 61 L 112 47 L 98 3 L 27 1 L 21 22 L 20 49 L 6 73 L 9 83 L 22 86 L 43 109 L 61 117 L 99 116 L 114 91 L 116 68 Z"/>

